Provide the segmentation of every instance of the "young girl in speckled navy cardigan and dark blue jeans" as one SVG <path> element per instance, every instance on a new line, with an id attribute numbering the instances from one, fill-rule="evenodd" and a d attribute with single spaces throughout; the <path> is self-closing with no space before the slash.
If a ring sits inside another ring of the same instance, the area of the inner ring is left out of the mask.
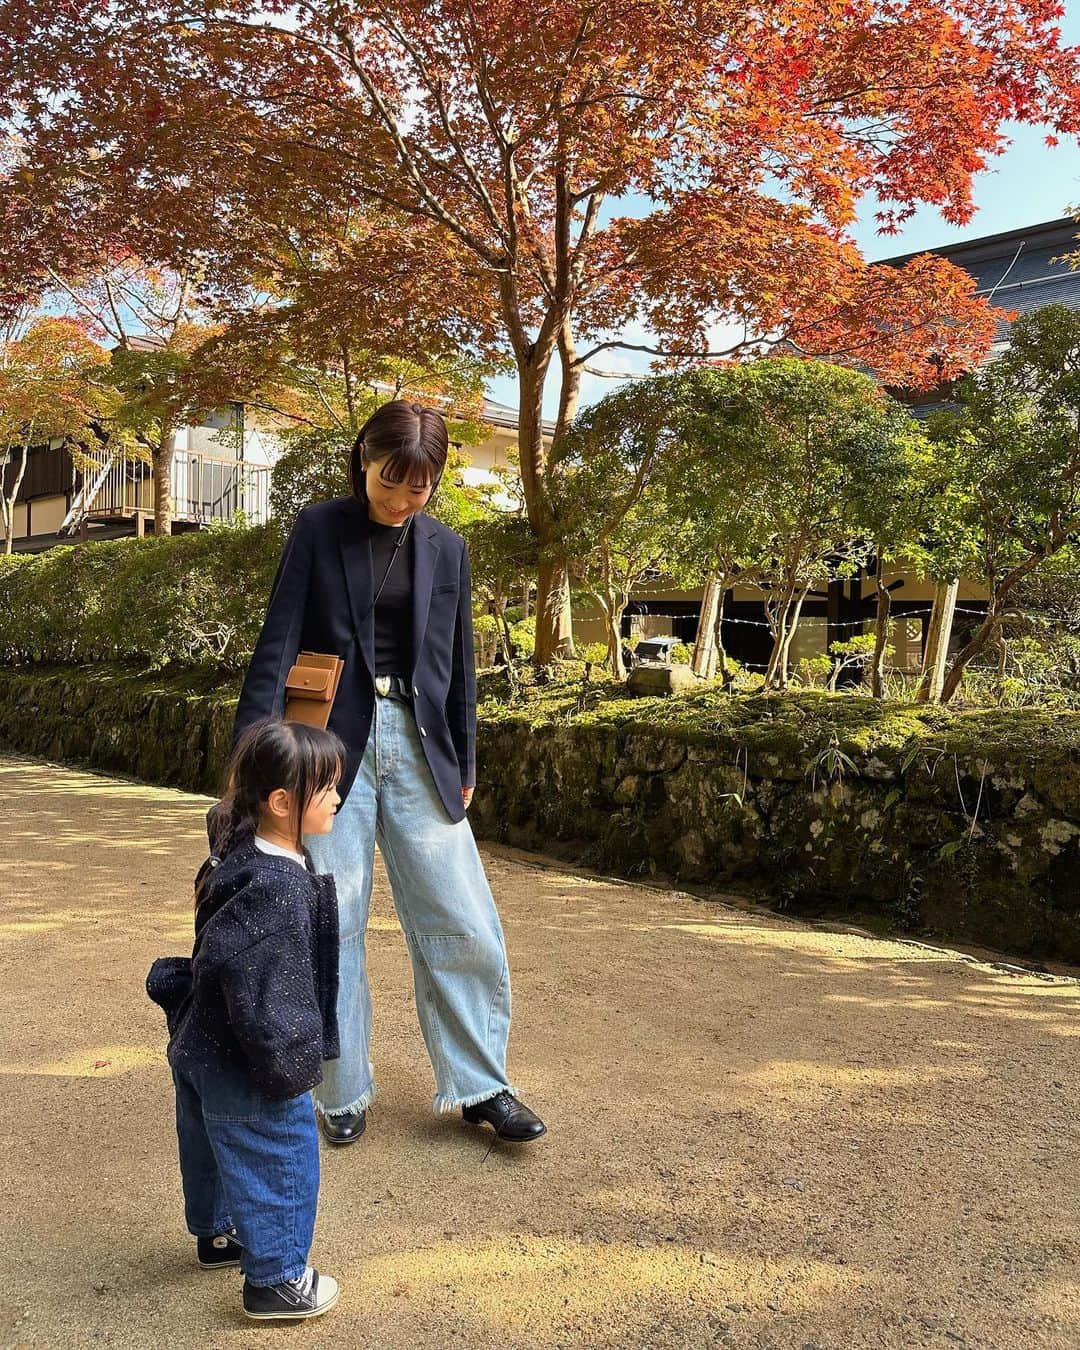
<path id="1" fill-rule="evenodd" d="M 338 1046 L 338 898 L 302 834 L 327 834 L 344 747 L 256 722 L 230 759 L 196 879 L 194 950 L 147 977 L 165 1008 L 185 1216 L 204 1268 L 240 1265 L 250 1318 L 315 1318 L 338 1284 L 312 1270 L 319 1135 L 310 1089 Z"/>

